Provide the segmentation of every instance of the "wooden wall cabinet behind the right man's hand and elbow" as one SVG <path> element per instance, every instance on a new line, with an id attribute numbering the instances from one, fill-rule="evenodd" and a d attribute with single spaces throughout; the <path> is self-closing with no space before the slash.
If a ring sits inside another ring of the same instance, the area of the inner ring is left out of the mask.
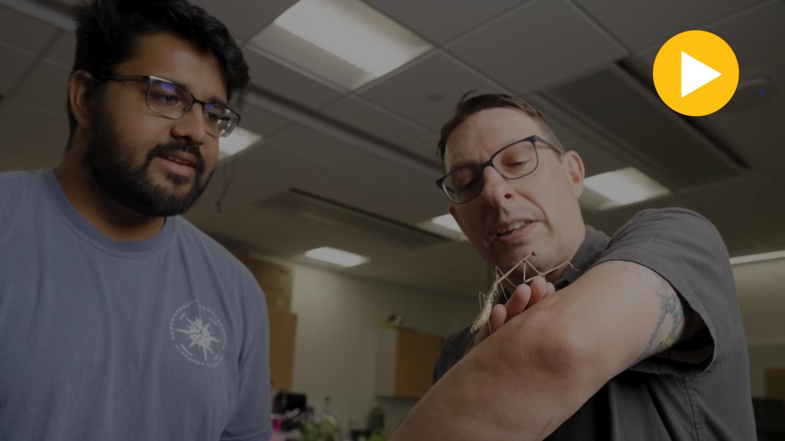
<path id="1" fill-rule="evenodd" d="M 433 384 L 443 337 L 412 330 L 383 330 L 376 352 L 376 395 L 422 398 Z"/>

